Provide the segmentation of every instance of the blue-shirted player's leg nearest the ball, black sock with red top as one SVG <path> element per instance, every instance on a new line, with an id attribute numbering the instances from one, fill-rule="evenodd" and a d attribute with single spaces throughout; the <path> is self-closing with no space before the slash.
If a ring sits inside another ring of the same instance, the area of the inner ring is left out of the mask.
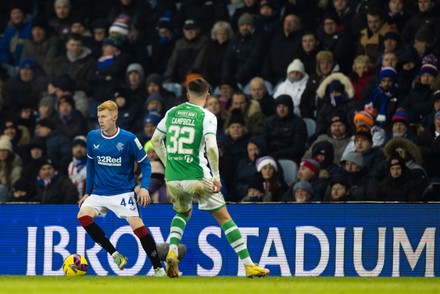
<path id="1" fill-rule="evenodd" d="M 89 198 L 90 197 L 93 196 L 89 196 Z M 92 202 L 91 205 L 94 206 L 93 201 L 89 202 Z M 78 212 L 79 223 L 84 230 L 86 230 L 87 234 L 89 234 L 93 241 L 101 245 L 101 247 L 113 257 L 115 263 L 118 265 L 118 268 L 124 269 L 125 265 L 127 264 L 127 258 L 116 251 L 116 248 L 112 243 L 110 243 L 110 240 L 105 236 L 105 233 L 101 227 L 94 222 L 94 218 L 98 215 L 97 210 L 87 205 L 87 202 L 84 202 Z"/>

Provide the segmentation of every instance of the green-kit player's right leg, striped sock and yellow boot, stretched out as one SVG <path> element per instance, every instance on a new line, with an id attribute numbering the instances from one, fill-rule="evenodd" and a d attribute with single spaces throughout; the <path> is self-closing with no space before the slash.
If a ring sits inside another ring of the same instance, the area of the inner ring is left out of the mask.
<path id="1" fill-rule="evenodd" d="M 241 236 L 240 229 L 232 220 L 226 206 L 211 211 L 211 214 L 221 226 L 229 244 L 243 262 L 246 269 L 246 276 L 250 278 L 267 276 L 269 274 L 269 270 L 258 266 L 252 261 L 247 245 Z"/>

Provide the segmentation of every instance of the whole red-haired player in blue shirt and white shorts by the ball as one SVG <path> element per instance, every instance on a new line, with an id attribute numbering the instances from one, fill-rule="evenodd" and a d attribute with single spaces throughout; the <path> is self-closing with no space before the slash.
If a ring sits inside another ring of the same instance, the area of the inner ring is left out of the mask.
<path id="1" fill-rule="evenodd" d="M 86 194 L 79 201 L 78 221 L 90 237 L 112 257 L 120 270 L 127 264 L 127 257 L 120 254 L 104 231 L 94 222 L 109 210 L 126 219 L 154 267 L 154 276 L 166 273 L 159 260 L 156 243 L 140 217 L 138 204 L 146 207 L 151 202 L 148 188 L 151 166 L 137 137 L 116 125 L 118 106 L 108 100 L 98 106 L 100 129 L 87 135 Z M 142 171 L 139 193 L 134 193 L 136 177 L 134 162 Z"/>

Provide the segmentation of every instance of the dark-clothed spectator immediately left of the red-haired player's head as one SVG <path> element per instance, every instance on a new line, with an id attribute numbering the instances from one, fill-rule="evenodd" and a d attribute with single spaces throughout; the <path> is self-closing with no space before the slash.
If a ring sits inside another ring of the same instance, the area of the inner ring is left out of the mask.
<path id="1" fill-rule="evenodd" d="M 55 117 L 57 129 L 63 132 L 71 140 L 79 135 L 87 135 L 88 125 L 84 116 L 75 109 L 75 101 L 71 95 L 65 95 L 58 99 L 58 110 Z"/>

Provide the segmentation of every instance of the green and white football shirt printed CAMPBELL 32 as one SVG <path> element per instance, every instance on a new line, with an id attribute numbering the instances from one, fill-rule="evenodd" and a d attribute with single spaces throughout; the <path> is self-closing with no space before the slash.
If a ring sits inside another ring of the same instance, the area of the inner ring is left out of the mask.
<path id="1" fill-rule="evenodd" d="M 157 126 L 166 134 L 167 181 L 210 178 L 205 157 L 206 134 L 216 134 L 217 118 L 196 104 L 186 102 L 167 111 Z"/>

